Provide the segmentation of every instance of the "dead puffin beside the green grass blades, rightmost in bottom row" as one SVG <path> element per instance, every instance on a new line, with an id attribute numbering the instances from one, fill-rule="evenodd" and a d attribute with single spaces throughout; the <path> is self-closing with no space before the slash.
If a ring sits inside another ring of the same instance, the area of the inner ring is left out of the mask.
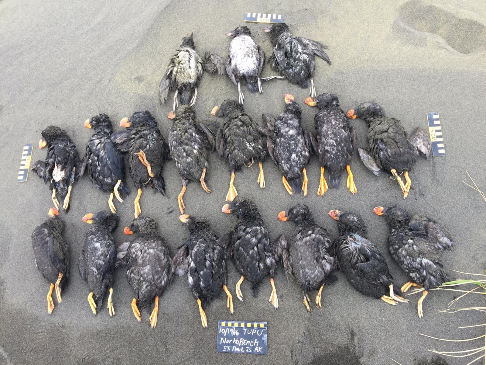
<path id="1" fill-rule="evenodd" d="M 451 234 L 434 220 L 422 215 L 410 217 L 401 208 L 379 206 L 373 212 L 387 221 L 390 254 L 413 280 L 403 285 L 401 291 L 406 292 L 412 286 L 424 289 L 417 303 L 418 316 L 422 318 L 422 302 L 429 290 L 448 280 L 441 256 L 445 249 L 454 246 Z"/>

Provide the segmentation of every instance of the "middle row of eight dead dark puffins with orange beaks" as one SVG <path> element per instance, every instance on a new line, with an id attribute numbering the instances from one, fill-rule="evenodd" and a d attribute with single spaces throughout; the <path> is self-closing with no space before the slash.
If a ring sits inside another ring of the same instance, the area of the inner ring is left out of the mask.
<path id="1" fill-rule="evenodd" d="M 181 105 L 169 115 L 173 123 L 168 143 L 149 111 L 135 112 L 130 118 L 123 118 L 120 126 L 125 129 L 116 132 L 109 117 L 99 114 L 85 122 L 85 127 L 93 128 L 95 133 L 87 143 L 82 161 L 67 132 L 50 126 L 42 131 L 43 138 L 39 142 L 40 148 L 48 146 L 46 159 L 37 161 L 33 171 L 50 185 L 54 206 L 59 208 L 59 197 L 65 210 L 69 207 L 72 185 L 87 171 L 93 185 L 110 194 L 108 205 L 114 213 L 114 198 L 122 202 L 130 192 L 124 180 L 122 155 L 128 152 L 128 168 L 137 188 L 135 218 L 141 213 L 139 200 L 143 186 L 151 185 L 161 194 L 165 193 L 162 169 L 170 159 L 174 161 L 182 182 L 177 197 L 181 213 L 184 213 L 183 196 L 190 181 L 200 183 L 204 191 L 210 193 L 205 177 L 208 152 L 214 148 L 226 159 L 231 173 L 226 201 L 233 201 L 238 195 L 235 173 L 244 166 L 258 163 L 260 173 L 257 183 L 260 188 L 265 187 L 262 162 L 267 155 L 278 165 L 288 193 L 293 195 L 303 191 L 306 196 L 306 166 L 312 152 L 317 154 L 321 164 L 318 195 L 324 195 L 329 187 L 337 187 L 344 171 L 348 174 L 347 188 L 355 194 L 357 188 L 350 162 L 356 131 L 349 120 L 359 117 L 369 126 L 368 151 L 359 149 L 361 160 L 374 174 L 385 172 L 395 178 L 403 198 L 407 197 L 412 184 L 408 173 L 417 156 L 430 155 L 430 140 L 422 129 L 417 128 L 409 137 L 401 122 L 387 117 L 378 104 L 361 103 L 345 113 L 336 95 L 324 93 L 306 101 L 319 108 L 314 117 L 315 133 L 310 133 L 301 126 L 301 108 L 295 98 L 285 94 L 284 102 L 285 110 L 277 119 L 263 115 L 267 128 L 256 123 L 236 100 L 227 99 L 211 111 L 212 115 L 226 117 L 223 126 L 201 122 L 193 108 Z M 325 170 L 328 170 L 329 184 Z M 406 183 L 403 183 L 401 175 Z"/>

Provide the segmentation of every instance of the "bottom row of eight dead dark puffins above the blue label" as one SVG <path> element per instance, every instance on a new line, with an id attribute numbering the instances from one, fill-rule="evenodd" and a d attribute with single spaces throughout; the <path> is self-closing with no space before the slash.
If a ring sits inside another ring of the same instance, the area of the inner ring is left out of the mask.
<path id="1" fill-rule="evenodd" d="M 317 290 L 315 306 L 321 308 L 323 288 L 335 280 L 337 268 L 359 292 L 381 298 L 391 305 L 408 302 L 401 296 L 402 292 L 412 286 L 420 288 L 423 294 L 417 304 L 419 317 L 423 316 L 422 301 L 428 291 L 447 278 L 441 253 L 454 246 L 451 235 L 433 219 L 420 214 L 410 216 L 397 207 L 376 207 L 373 211 L 386 219 L 390 227 L 389 251 L 413 280 L 401 289 L 395 284 L 382 253 L 368 240 L 366 224 L 357 214 L 338 210 L 329 212 L 339 228 L 339 237 L 332 242 L 308 206 L 299 204 L 280 212 L 279 220 L 291 220 L 297 225 L 289 250 L 284 235 L 275 241 L 270 239 L 253 201 L 237 199 L 225 204 L 222 211 L 233 213 L 238 219 L 233 231 L 223 236 L 218 235 L 206 219 L 180 215 L 179 220 L 189 229 L 190 237 L 174 256 L 152 218 L 139 216 L 134 219 L 123 233 L 136 237 L 116 248 L 112 232 L 119 223 L 118 216 L 109 211 L 85 215 L 83 221 L 94 227 L 86 233 L 78 268 L 81 278 L 87 282 L 87 300 L 93 313 L 99 312 L 108 292 L 108 312 L 110 316 L 115 314 L 112 293 L 116 267 L 126 269 L 126 278 L 134 294 L 131 306 L 138 321 L 141 320 L 140 310 L 154 303 L 149 317 L 152 328 L 157 322 L 159 298 L 175 274 L 187 276 L 204 327 L 208 327 L 205 309 L 222 291 L 227 296 L 226 306 L 233 313 L 232 294 L 227 287 L 226 260 L 229 258 L 241 274 L 235 287 L 238 299 L 243 301 L 243 280 L 251 284 L 257 296 L 262 281 L 270 276 L 269 302 L 275 309 L 278 309 L 278 296 L 274 276 L 279 261 L 286 274 L 302 288 L 303 303 L 308 311 L 312 307 L 308 292 Z M 49 313 L 54 309 L 52 292 L 55 290 L 57 301 L 61 302 L 69 272 L 69 247 L 63 239 L 63 229 L 64 221 L 58 218 L 57 209 L 51 208 L 49 219 L 32 234 L 35 264 L 50 282 L 47 294 Z"/>

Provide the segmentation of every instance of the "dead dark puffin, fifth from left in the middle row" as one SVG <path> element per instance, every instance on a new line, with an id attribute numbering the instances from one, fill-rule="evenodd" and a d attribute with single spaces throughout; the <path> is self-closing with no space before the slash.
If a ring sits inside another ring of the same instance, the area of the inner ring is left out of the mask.
<path id="1" fill-rule="evenodd" d="M 225 116 L 226 122 L 223 128 L 219 128 L 216 134 L 216 148 L 221 157 L 229 163 L 231 181 L 229 183 L 226 201 L 232 201 L 238 195 L 235 185 L 235 172 L 241 171 L 243 165 L 251 167 L 258 161 L 260 174 L 258 184 L 260 189 L 265 187 L 262 161 L 265 159 L 263 138 L 267 136 L 264 128 L 255 123 L 243 109 L 243 105 L 236 100 L 227 99 L 221 106 L 214 107 L 212 115 Z"/>

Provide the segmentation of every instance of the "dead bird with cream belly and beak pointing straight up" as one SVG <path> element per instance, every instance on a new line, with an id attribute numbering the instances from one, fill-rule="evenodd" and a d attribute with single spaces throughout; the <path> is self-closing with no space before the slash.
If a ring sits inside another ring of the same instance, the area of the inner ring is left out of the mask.
<path id="1" fill-rule="evenodd" d="M 225 63 L 221 56 L 206 52 L 204 59 L 200 57 L 194 46 L 193 31 L 182 40 L 182 44 L 174 52 L 169 67 L 164 73 L 158 88 L 158 97 L 161 104 L 165 104 L 169 91 L 175 91 L 172 111 L 179 106 L 177 95 L 180 93 L 180 103 L 196 103 L 197 88 L 203 72 L 225 73 Z"/>

